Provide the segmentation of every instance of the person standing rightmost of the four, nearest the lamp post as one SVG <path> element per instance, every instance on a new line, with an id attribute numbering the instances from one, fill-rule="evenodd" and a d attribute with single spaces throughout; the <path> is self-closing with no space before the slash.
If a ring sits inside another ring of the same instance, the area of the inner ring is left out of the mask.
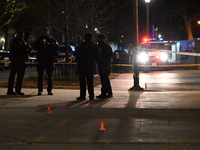
<path id="1" fill-rule="evenodd" d="M 113 97 L 112 87 L 109 75 L 112 67 L 112 48 L 105 42 L 106 37 L 102 34 L 98 35 L 97 46 L 101 52 L 101 58 L 98 62 L 98 72 L 101 80 L 101 94 L 97 98 Z"/>

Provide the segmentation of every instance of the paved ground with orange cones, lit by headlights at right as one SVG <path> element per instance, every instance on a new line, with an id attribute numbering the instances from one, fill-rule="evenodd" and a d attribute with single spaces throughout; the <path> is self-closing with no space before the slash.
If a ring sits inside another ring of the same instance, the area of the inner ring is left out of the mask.
<path id="1" fill-rule="evenodd" d="M 145 83 L 144 91 L 129 91 L 133 74 L 121 74 L 111 80 L 113 98 L 82 102 L 75 100 L 79 90 L 37 96 L 23 89 L 20 97 L 1 88 L 0 149 L 200 149 L 200 71 L 140 73 Z"/>

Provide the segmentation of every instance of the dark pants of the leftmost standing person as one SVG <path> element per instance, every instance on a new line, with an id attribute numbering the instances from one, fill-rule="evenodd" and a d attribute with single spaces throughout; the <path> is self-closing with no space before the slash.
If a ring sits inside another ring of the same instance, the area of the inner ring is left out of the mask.
<path id="1" fill-rule="evenodd" d="M 17 81 L 15 86 L 15 92 L 19 93 L 22 89 L 22 82 L 24 79 L 26 64 L 25 63 L 11 63 L 10 76 L 8 79 L 8 92 L 13 92 L 15 75 L 17 74 Z"/>

